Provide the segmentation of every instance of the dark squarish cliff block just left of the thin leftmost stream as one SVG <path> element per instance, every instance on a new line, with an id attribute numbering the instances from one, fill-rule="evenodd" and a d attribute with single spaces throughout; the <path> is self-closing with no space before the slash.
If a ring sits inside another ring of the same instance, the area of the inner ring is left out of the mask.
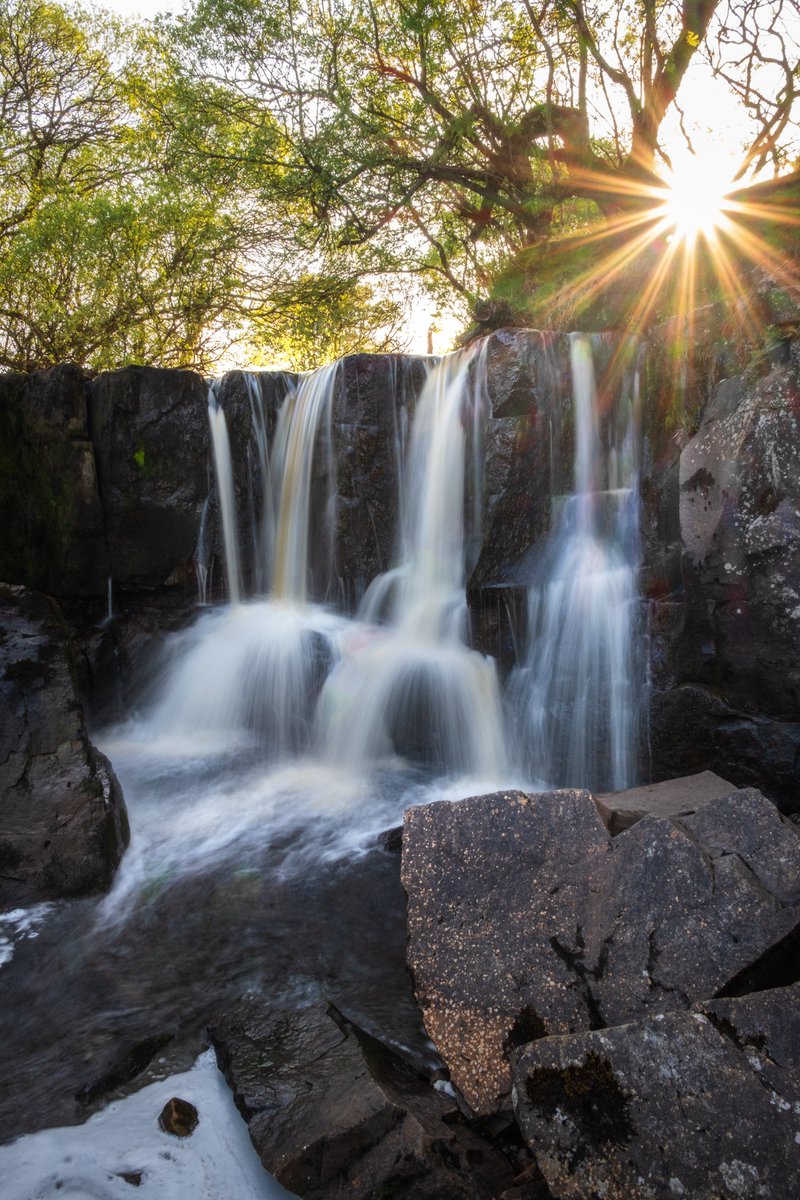
<path id="1" fill-rule="evenodd" d="M 124 367 L 89 396 L 114 584 L 169 582 L 194 596 L 193 557 L 211 488 L 207 385 L 192 371 Z"/>

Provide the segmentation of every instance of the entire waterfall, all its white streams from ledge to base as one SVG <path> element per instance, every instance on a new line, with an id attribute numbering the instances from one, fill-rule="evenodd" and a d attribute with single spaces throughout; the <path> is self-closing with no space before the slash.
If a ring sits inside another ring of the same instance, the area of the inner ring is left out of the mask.
<path id="1" fill-rule="evenodd" d="M 552 532 L 529 556 L 528 631 L 504 710 L 494 661 L 468 646 L 465 600 L 481 546 L 487 344 L 429 364 L 409 437 L 396 439 L 393 563 L 355 619 L 311 599 L 335 580 L 339 365 L 288 388 L 271 445 L 260 385 L 245 377 L 261 497 L 255 586 L 267 594 L 243 606 L 227 430 L 210 403 L 233 610 L 174 643 L 158 714 L 170 736 L 243 737 L 278 760 L 315 749 L 356 770 L 410 760 L 485 780 L 513 769 L 547 786 L 634 780 L 638 380 L 628 370 L 610 403 L 591 338 L 572 336 L 573 488 L 553 497 Z M 253 509 L 257 491 L 251 480 Z"/>

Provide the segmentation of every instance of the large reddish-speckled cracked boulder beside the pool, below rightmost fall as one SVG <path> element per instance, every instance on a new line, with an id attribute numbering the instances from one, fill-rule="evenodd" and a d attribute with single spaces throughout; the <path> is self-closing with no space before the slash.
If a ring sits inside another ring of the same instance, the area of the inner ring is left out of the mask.
<path id="1" fill-rule="evenodd" d="M 800 835 L 753 791 L 613 839 L 588 792 L 410 809 L 402 877 L 426 1028 L 483 1114 L 510 1048 L 686 1008 L 800 926 Z"/>

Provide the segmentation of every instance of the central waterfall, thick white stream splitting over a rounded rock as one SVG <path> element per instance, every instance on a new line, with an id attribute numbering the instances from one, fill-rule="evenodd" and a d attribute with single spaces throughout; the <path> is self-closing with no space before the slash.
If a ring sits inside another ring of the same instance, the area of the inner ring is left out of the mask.
<path id="1" fill-rule="evenodd" d="M 348 766 L 398 752 L 447 773 L 503 770 L 494 662 L 464 643 L 464 475 L 468 442 L 486 422 L 476 358 L 463 350 L 428 374 L 411 428 L 398 562 L 367 590 L 320 696 L 324 750 Z"/>

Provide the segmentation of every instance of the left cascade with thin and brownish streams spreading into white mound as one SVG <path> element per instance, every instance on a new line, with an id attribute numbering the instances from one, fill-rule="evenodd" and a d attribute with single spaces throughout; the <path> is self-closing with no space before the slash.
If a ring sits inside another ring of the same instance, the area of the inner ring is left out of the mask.
<path id="1" fill-rule="evenodd" d="M 264 558 L 257 578 L 269 578 L 271 590 L 266 600 L 246 605 L 239 604 L 235 587 L 240 571 L 230 446 L 216 396 L 210 402 L 231 606 L 209 613 L 174 641 L 149 739 L 167 739 L 193 751 L 254 745 L 272 760 L 308 746 L 317 692 L 342 625 L 342 618 L 307 604 L 313 470 L 321 442 L 330 476 L 336 371 L 336 364 L 324 367 L 288 390 L 271 463 L 265 437 L 258 439 L 265 502 L 258 539 Z M 260 391 L 252 376 L 246 386 L 251 406 L 259 406 L 253 420 L 258 437 L 259 431 L 265 433 Z M 330 508 L 327 494 L 325 503 Z"/>

